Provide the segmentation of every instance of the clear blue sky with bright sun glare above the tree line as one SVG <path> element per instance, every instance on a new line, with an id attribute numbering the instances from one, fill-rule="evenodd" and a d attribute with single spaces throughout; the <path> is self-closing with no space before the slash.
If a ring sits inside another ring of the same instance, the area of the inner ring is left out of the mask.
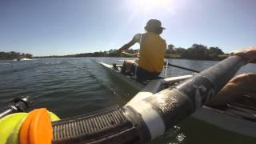
<path id="1" fill-rule="evenodd" d="M 256 45 L 255 6 L 255 0 L 0 0 L 0 51 L 42 56 L 118 49 L 156 18 L 166 27 L 167 44 L 228 53 Z"/>

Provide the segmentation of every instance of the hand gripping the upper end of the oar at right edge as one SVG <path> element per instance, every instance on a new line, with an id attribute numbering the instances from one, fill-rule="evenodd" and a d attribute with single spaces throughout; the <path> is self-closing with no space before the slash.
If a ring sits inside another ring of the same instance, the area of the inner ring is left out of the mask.
<path id="1" fill-rule="evenodd" d="M 242 58 L 246 59 L 246 63 L 251 61 L 256 61 L 256 46 L 240 49 L 240 50 L 234 50 L 230 53 L 230 55 L 238 55 Z"/>

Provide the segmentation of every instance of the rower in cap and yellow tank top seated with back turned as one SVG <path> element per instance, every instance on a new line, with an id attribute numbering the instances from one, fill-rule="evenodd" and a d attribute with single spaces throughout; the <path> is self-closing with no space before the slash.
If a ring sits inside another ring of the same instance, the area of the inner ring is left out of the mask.
<path id="1" fill-rule="evenodd" d="M 160 37 L 162 24 L 157 19 L 150 19 L 145 26 L 146 33 L 135 34 L 134 38 L 122 46 L 118 53 L 128 50 L 136 42 L 140 44 L 138 63 L 125 61 L 122 66 L 122 73 L 130 70 L 139 80 L 151 80 L 158 78 L 161 74 L 166 54 L 166 40 Z"/>

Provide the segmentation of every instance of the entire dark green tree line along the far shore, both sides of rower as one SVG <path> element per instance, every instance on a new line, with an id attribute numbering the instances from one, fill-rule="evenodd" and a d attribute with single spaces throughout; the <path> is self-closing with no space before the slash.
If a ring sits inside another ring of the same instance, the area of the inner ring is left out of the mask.
<path id="1" fill-rule="evenodd" d="M 127 53 L 135 54 L 138 50 L 127 50 Z M 205 46 L 202 44 L 193 44 L 188 48 L 175 47 L 170 44 L 167 46 L 166 58 L 184 58 L 184 59 L 200 59 L 200 60 L 222 60 L 227 58 L 229 54 L 214 46 Z M 46 56 L 46 57 L 34 57 L 34 58 L 81 58 L 81 57 L 130 57 L 129 55 L 120 55 L 116 49 L 98 51 L 94 53 L 83 53 L 83 54 L 70 54 L 63 56 Z M 14 51 L 0 52 L 0 59 L 15 59 L 15 58 L 32 58 L 32 54 L 18 53 Z"/>

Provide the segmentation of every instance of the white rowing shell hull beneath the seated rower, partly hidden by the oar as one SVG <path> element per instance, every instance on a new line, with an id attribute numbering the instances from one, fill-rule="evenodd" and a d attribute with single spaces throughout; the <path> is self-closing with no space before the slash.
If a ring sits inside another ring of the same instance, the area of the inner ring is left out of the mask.
<path id="1" fill-rule="evenodd" d="M 123 82 L 130 88 L 137 90 L 138 94 L 130 101 L 135 102 L 146 98 L 146 94 L 155 94 L 166 87 L 176 85 L 193 75 L 182 75 L 179 77 L 160 78 L 157 80 L 138 82 L 133 76 L 121 74 L 122 65 L 109 65 L 98 62 L 105 70 L 114 76 L 116 80 Z M 238 134 L 256 138 L 256 100 L 250 96 L 242 96 L 238 102 L 226 103 L 225 106 L 210 107 L 203 106 L 192 115 L 193 118 L 218 126 Z"/>

